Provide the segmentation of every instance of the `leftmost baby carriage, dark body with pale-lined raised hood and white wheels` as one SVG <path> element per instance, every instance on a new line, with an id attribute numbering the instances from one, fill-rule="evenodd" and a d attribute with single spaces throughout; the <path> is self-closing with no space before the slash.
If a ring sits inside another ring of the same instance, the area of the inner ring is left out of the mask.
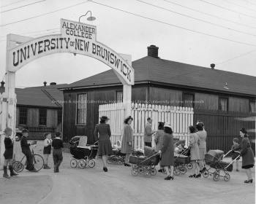
<path id="1" fill-rule="evenodd" d="M 98 142 L 98 141 L 97 141 Z M 75 136 L 69 141 L 70 149 L 70 165 L 72 168 L 79 166 L 85 168 L 89 165 L 93 168 L 95 165 L 95 157 L 98 152 L 97 142 L 87 144 L 87 136 Z"/>

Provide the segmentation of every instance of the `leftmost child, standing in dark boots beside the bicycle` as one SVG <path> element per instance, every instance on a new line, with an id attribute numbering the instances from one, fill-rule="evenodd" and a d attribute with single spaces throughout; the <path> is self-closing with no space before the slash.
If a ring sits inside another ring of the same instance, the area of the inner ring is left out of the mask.
<path id="1" fill-rule="evenodd" d="M 14 140 L 10 138 L 12 136 L 12 129 L 10 127 L 5 128 L 4 130 L 4 178 L 10 178 L 10 176 L 18 176 L 18 173 L 15 173 L 12 168 L 12 154 L 13 154 L 13 142 Z M 7 173 L 7 165 L 9 163 L 10 176 Z"/>

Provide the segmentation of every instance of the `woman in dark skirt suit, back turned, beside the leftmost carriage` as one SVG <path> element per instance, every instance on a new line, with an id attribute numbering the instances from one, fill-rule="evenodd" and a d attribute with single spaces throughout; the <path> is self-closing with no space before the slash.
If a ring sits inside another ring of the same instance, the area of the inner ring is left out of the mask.
<path id="1" fill-rule="evenodd" d="M 107 172 L 108 171 L 108 168 L 107 168 L 108 155 L 113 154 L 112 146 L 110 142 L 111 131 L 110 131 L 110 125 L 107 124 L 109 118 L 106 116 L 102 116 L 99 119 L 100 119 L 100 122 L 95 126 L 95 129 L 94 129 L 94 137 L 96 141 L 99 140 L 98 155 L 102 156 L 103 170 Z M 99 133 L 99 138 L 98 138 L 98 133 Z"/>

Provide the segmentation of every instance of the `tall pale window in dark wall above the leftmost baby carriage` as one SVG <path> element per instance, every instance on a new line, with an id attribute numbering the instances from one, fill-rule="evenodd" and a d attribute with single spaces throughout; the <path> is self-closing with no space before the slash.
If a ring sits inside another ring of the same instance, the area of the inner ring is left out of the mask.
<path id="1" fill-rule="evenodd" d="M 78 94 L 78 103 L 77 103 L 77 124 L 86 124 L 86 113 L 87 113 L 87 95 Z"/>

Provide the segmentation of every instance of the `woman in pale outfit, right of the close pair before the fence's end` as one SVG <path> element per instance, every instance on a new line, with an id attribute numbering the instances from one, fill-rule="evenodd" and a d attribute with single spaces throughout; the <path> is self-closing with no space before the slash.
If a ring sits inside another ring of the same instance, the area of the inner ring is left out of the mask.
<path id="1" fill-rule="evenodd" d="M 199 167 L 200 167 L 200 173 L 203 173 L 206 170 L 206 167 L 204 167 L 203 161 L 205 160 L 206 155 L 206 137 L 207 132 L 203 128 L 203 122 L 199 122 L 196 125 L 197 128 L 197 136 L 200 138 L 200 145 L 199 145 Z"/>

